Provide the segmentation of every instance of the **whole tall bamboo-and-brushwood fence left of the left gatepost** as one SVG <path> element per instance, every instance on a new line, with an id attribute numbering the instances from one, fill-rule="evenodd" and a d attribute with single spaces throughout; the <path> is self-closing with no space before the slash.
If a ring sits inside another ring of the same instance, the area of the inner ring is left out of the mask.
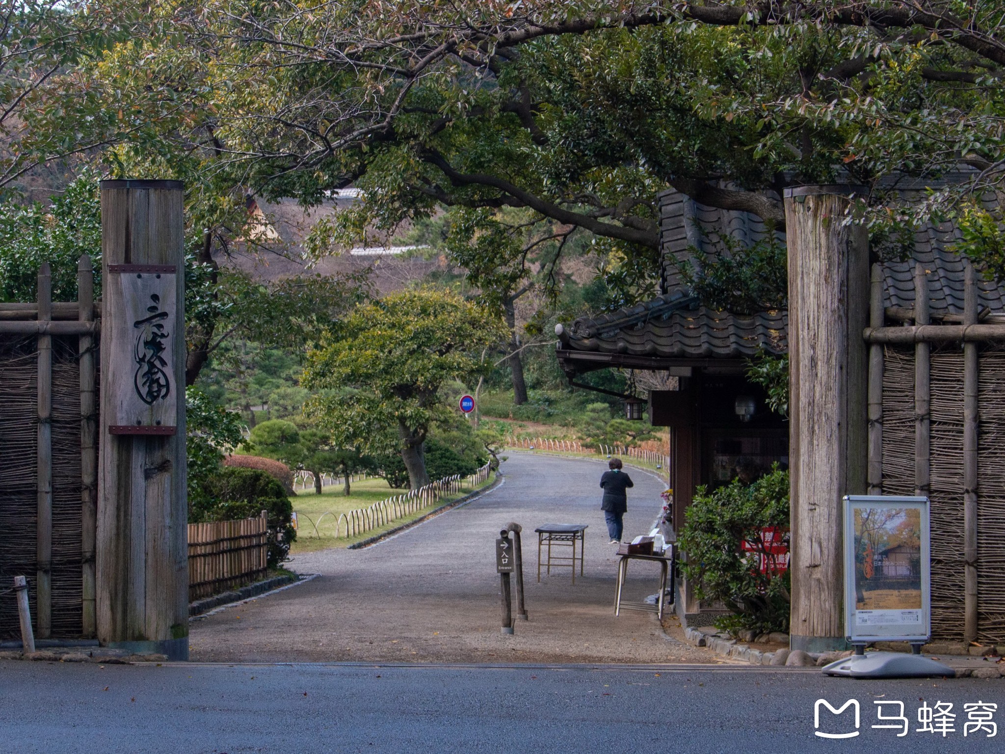
<path id="1" fill-rule="evenodd" d="M 33 304 L 0 304 L 0 577 L 24 575 L 35 635 L 94 635 L 99 307 L 90 259 L 80 301 L 53 303 L 48 264 Z M 13 594 L 0 594 L 0 638 L 19 635 Z"/>

